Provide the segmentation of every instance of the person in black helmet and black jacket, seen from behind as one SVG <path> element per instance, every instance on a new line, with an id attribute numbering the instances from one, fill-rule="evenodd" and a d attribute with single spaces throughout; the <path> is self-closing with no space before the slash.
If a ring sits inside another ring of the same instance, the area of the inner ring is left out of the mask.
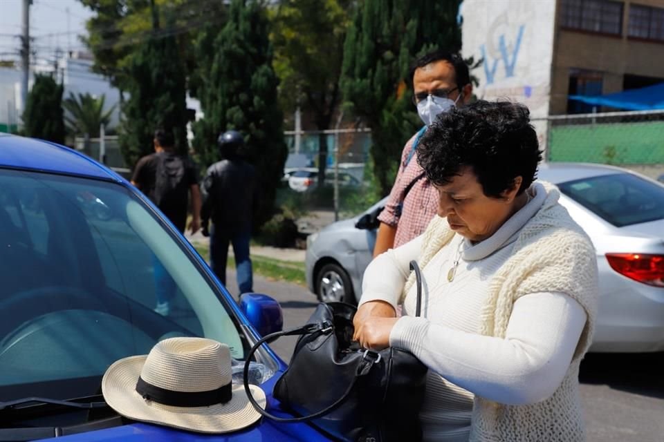
<path id="1" fill-rule="evenodd" d="M 249 258 L 249 240 L 257 180 L 254 167 L 241 158 L 244 139 L 237 131 L 219 135 L 221 161 L 212 164 L 203 179 L 204 201 L 201 225 L 210 237 L 210 267 L 226 283 L 228 244 L 232 244 L 240 294 L 252 291 L 253 278 Z M 208 222 L 212 227 L 208 229 Z"/>

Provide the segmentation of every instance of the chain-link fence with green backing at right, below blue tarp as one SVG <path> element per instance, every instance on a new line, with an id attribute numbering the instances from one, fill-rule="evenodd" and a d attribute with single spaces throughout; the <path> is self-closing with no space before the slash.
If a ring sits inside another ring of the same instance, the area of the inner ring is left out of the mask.
<path id="1" fill-rule="evenodd" d="M 664 173 L 664 111 L 552 115 L 546 160 L 591 162 L 631 169 L 652 178 Z"/>

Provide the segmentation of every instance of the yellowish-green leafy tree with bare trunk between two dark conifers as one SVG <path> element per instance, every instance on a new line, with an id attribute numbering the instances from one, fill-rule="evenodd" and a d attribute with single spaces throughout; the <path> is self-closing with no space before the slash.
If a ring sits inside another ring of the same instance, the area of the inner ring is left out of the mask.
<path id="1" fill-rule="evenodd" d="M 350 0 L 282 0 L 273 9 L 271 38 L 279 98 L 287 112 L 299 106 L 320 131 L 331 128 L 340 102 L 339 77 Z M 325 178 L 327 135 L 319 136 L 320 184 Z"/>

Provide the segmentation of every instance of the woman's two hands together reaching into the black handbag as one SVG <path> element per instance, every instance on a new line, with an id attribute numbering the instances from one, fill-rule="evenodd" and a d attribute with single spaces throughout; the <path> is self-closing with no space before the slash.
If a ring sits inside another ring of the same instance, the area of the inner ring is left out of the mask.
<path id="1" fill-rule="evenodd" d="M 397 319 L 394 307 L 387 302 L 362 304 L 353 318 L 353 340 L 357 340 L 362 347 L 374 350 L 389 347 L 389 333 Z"/>

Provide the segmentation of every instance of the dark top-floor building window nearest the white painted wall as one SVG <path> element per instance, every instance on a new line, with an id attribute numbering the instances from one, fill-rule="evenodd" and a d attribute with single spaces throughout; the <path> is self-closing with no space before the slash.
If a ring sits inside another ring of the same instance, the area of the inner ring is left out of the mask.
<path id="1" fill-rule="evenodd" d="M 623 2 L 611 0 L 562 0 L 562 27 L 622 35 Z"/>

